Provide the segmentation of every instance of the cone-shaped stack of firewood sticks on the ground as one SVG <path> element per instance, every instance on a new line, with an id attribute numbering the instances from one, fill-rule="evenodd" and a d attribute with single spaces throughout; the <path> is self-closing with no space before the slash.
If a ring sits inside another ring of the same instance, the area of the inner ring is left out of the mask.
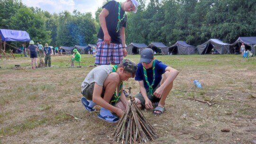
<path id="1" fill-rule="evenodd" d="M 158 138 L 156 130 L 147 121 L 135 100 L 129 96 L 131 102 L 126 113 L 121 117 L 112 136 L 113 142 L 123 144 L 146 143 Z"/>

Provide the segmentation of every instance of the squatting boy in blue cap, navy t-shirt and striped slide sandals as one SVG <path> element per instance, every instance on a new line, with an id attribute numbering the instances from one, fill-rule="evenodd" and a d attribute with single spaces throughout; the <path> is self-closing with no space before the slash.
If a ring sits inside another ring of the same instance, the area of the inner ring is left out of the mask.
<path id="1" fill-rule="evenodd" d="M 174 68 L 155 60 L 154 51 L 145 48 L 140 54 L 140 63 L 135 76 L 139 90 L 135 96 L 139 108 L 155 109 L 153 114 L 164 112 L 165 99 L 173 88 L 173 81 L 179 74 Z"/>

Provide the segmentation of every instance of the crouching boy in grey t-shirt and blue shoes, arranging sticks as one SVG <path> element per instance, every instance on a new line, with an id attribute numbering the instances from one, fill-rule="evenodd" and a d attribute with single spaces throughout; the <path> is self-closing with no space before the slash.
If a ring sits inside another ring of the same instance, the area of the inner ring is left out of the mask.
<path id="1" fill-rule="evenodd" d="M 101 106 L 98 117 L 110 123 L 119 121 L 127 106 L 122 92 L 123 81 L 135 76 L 137 64 L 125 59 L 119 65 L 100 65 L 91 70 L 82 81 L 82 105 L 92 112 L 95 105 Z M 111 113 L 115 113 L 118 117 Z"/>

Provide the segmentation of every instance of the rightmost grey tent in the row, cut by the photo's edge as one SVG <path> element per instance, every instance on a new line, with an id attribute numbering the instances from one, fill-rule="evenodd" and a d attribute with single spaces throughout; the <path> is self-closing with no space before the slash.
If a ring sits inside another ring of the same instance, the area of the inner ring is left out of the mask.
<path id="1" fill-rule="evenodd" d="M 255 55 L 256 54 L 256 48 L 254 45 L 256 44 L 256 36 L 251 36 L 251 37 L 238 37 L 235 43 L 231 44 L 231 47 L 233 47 L 234 53 L 239 53 L 240 54 L 240 46 L 242 43 L 245 44 L 245 49 L 252 51 L 252 53 Z"/>

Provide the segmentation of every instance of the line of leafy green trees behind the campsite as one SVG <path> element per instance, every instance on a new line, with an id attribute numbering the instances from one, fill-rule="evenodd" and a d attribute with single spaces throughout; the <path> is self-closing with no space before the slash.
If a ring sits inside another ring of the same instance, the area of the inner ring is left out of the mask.
<path id="1" fill-rule="evenodd" d="M 162 42 L 170 46 L 183 40 L 196 46 L 210 38 L 233 43 L 239 36 L 256 36 L 256 0 L 137 1 L 137 13 L 128 13 L 127 45 Z M 99 6 L 95 18 L 79 9 L 50 14 L 20 0 L 0 0 L 0 28 L 27 31 L 35 42 L 53 46 L 96 44 L 101 10 Z"/>

